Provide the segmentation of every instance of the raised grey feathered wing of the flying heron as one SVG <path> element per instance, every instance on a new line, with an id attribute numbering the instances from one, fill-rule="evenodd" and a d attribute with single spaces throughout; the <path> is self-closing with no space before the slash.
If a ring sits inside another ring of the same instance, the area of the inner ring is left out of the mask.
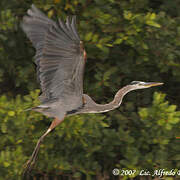
<path id="1" fill-rule="evenodd" d="M 76 17 L 55 23 L 34 5 L 27 14 L 22 28 L 36 49 L 41 102 L 69 99 L 81 106 L 85 51 L 75 27 Z"/>

